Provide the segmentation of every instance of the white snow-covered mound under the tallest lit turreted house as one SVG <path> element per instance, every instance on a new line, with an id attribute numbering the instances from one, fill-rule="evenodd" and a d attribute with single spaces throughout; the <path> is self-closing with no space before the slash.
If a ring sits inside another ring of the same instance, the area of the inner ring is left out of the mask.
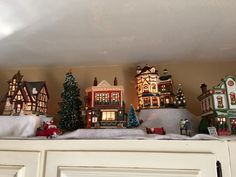
<path id="1" fill-rule="evenodd" d="M 141 127 L 163 127 L 167 134 L 180 134 L 180 120 L 188 119 L 191 124 L 191 135 L 195 135 L 200 122 L 200 118 L 187 109 L 180 108 L 143 109 L 139 113 L 139 119 L 144 121 Z"/>

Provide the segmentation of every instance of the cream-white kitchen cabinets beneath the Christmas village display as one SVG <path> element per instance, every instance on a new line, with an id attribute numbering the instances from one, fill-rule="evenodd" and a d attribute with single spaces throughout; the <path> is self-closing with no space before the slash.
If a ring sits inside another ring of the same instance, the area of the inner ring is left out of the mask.
<path id="1" fill-rule="evenodd" d="M 0 140 L 0 177 L 217 177 L 217 161 L 231 177 L 227 141 Z"/>

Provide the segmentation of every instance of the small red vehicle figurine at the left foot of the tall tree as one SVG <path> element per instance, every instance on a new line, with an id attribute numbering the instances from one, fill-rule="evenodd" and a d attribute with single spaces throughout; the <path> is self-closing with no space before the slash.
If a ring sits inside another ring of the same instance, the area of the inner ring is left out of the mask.
<path id="1" fill-rule="evenodd" d="M 36 136 L 47 136 L 47 138 L 55 138 L 61 134 L 62 131 L 57 128 L 53 121 L 44 122 L 42 128 L 38 128 L 36 131 Z"/>

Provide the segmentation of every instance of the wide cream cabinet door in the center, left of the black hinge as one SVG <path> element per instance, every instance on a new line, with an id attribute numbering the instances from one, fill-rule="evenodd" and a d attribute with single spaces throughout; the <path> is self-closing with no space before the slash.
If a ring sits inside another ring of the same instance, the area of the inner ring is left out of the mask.
<path id="1" fill-rule="evenodd" d="M 207 153 L 51 151 L 45 177 L 216 177 Z"/>

